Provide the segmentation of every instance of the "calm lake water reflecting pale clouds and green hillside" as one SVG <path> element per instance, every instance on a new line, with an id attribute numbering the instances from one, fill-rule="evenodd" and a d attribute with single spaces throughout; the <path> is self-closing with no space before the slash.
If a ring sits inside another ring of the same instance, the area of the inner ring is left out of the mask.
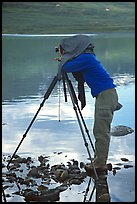
<path id="1" fill-rule="evenodd" d="M 65 37 L 65 36 L 64 36 Z M 21 141 L 44 94 L 57 74 L 55 47 L 63 36 L 3 36 L 2 37 L 2 154 L 12 155 Z M 134 33 L 91 35 L 97 58 L 106 67 L 117 85 L 123 108 L 115 112 L 112 126 L 126 125 L 135 129 L 135 36 Z M 77 83 L 69 74 L 77 94 Z M 82 115 L 92 134 L 94 103 L 85 84 L 86 107 Z M 50 156 L 51 164 L 66 163 L 69 159 L 88 162 L 88 154 L 78 121 L 67 92 L 64 101 L 62 82 L 57 82 L 45 101 L 35 122 L 23 140 L 17 154 L 37 159 Z M 60 122 L 59 122 L 60 120 Z M 55 154 L 61 152 L 61 154 Z M 93 151 L 91 149 L 91 154 Z M 111 137 L 108 162 L 113 165 L 126 157 L 135 166 L 135 134 Z M 135 168 L 121 169 L 108 175 L 111 202 L 131 202 L 135 199 Z M 74 186 L 61 194 L 61 202 L 81 202 L 82 186 Z M 71 195 L 70 195 L 71 194 Z M 17 201 L 18 197 L 8 201 Z M 93 202 L 95 196 L 93 196 Z"/>

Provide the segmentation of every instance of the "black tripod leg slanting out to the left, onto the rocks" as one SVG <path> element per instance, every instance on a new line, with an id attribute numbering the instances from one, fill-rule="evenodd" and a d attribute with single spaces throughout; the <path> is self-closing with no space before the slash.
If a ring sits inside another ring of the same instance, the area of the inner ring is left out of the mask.
<path id="1" fill-rule="evenodd" d="M 34 120 L 36 119 L 36 117 L 37 117 L 39 111 L 40 111 L 41 108 L 43 107 L 43 105 L 44 105 L 46 99 L 48 99 L 49 95 L 51 94 L 51 92 L 52 92 L 53 88 L 55 87 L 57 81 L 58 81 L 58 78 L 57 78 L 57 76 L 55 76 L 54 79 L 52 80 L 52 82 L 51 82 L 51 84 L 50 84 L 50 86 L 49 86 L 47 92 L 46 92 L 45 95 L 44 95 L 44 99 L 43 99 L 42 103 L 40 104 L 40 106 L 39 106 L 39 108 L 38 108 L 36 114 L 34 115 L 32 121 L 30 122 L 30 125 L 28 126 L 28 128 L 27 128 L 26 132 L 24 133 L 24 135 L 23 135 L 23 137 L 22 137 L 22 139 L 21 139 L 19 145 L 17 146 L 17 148 L 16 148 L 15 152 L 13 153 L 13 155 L 12 155 L 10 161 L 8 162 L 7 168 L 9 167 L 9 164 L 11 163 L 12 159 L 14 158 L 16 152 L 18 151 L 18 149 L 19 149 L 21 143 L 23 142 L 24 138 L 26 137 L 28 131 L 30 130 L 30 128 L 31 128 L 31 126 L 32 126 L 32 124 L 33 124 L 33 122 L 34 122 Z"/>

